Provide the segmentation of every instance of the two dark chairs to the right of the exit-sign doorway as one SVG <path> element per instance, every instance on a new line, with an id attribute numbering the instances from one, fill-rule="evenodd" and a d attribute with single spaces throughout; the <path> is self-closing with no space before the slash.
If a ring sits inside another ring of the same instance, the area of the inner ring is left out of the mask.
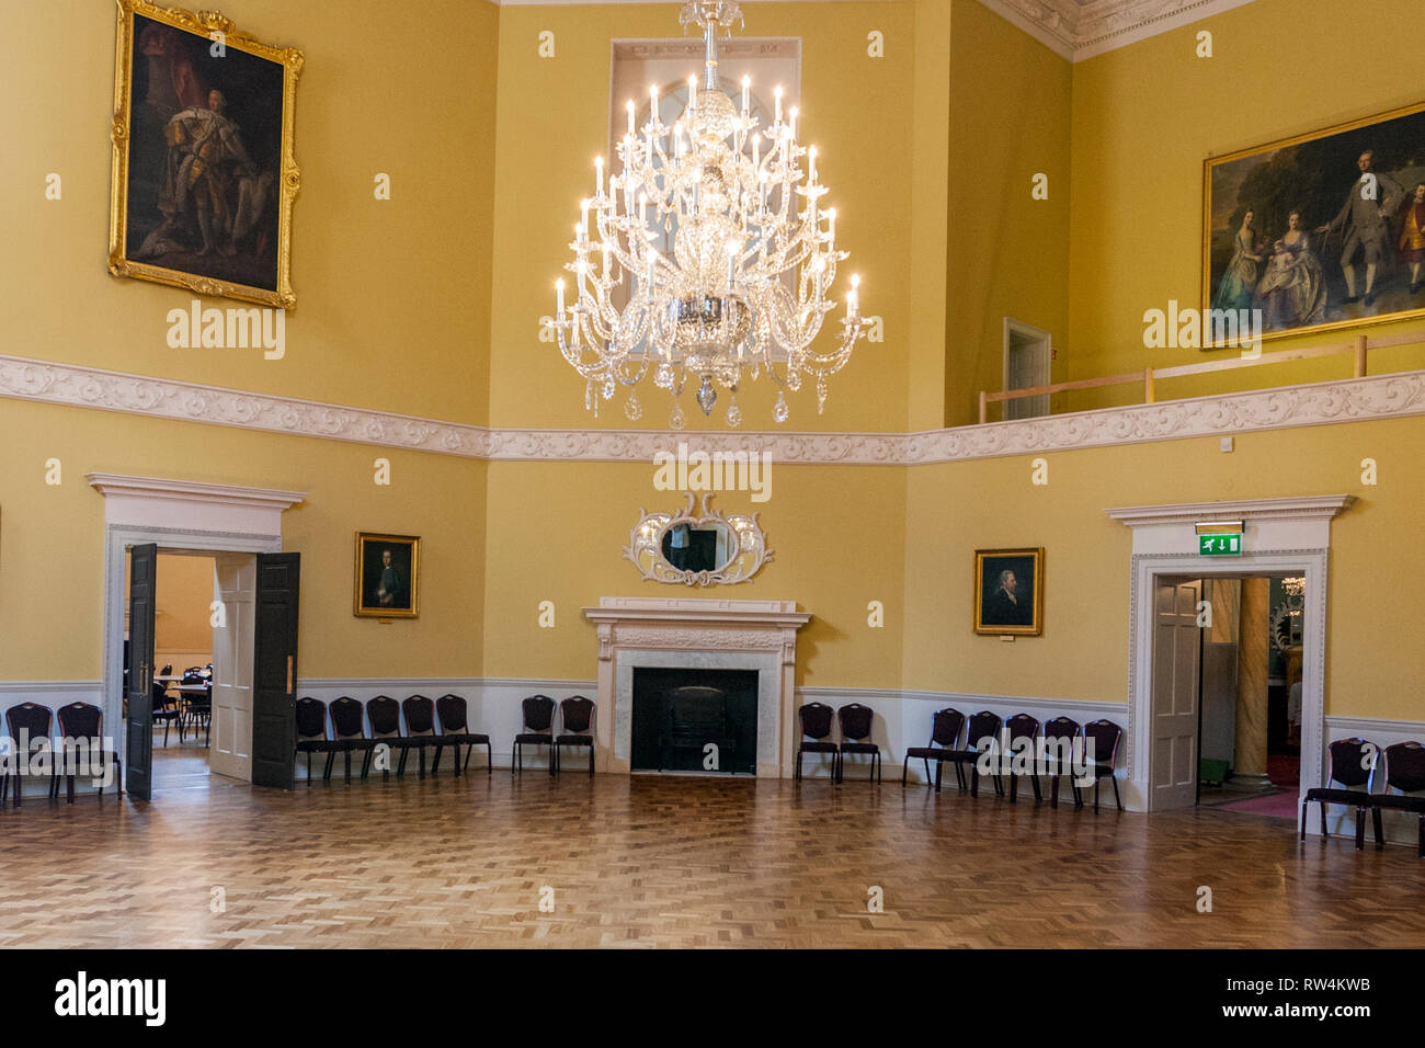
<path id="1" fill-rule="evenodd" d="M 1355 808 L 1355 847 L 1365 848 L 1365 813 L 1371 813 L 1375 830 L 1375 847 L 1385 847 L 1381 826 L 1382 811 L 1405 811 L 1419 817 L 1419 838 L 1416 853 L 1425 858 L 1425 797 L 1405 794 L 1425 791 L 1425 746 L 1411 740 L 1387 746 L 1382 751 L 1365 739 L 1338 739 L 1331 743 L 1331 781 L 1341 783 L 1335 788 L 1330 783 L 1315 790 L 1307 790 L 1301 801 L 1301 840 L 1307 838 L 1307 813 L 1312 804 L 1321 806 L 1321 843 L 1327 840 L 1327 806 L 1341 804 Z M 1385 790 L 1377 793 L 1377 773 L 1384 767 Z M 1362 788 L 1364 787 L 1364 788 Z M 1399 790 L 1399 793 L 1391 793 Z"/>

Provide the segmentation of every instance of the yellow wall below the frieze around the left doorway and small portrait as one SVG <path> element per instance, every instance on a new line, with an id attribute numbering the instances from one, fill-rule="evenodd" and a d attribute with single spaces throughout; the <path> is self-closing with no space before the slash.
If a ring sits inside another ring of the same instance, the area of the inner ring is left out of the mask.
<path id="1" fill-rule="evenodd" d="M 302 555 L 304 677 L 480 673 L 480 463 L 17 401 L 0 401 L 0 680 L 101 676 L 104 498 L 91 471 L 306 492 L 282 518 L 285 549 Z M 389 488 L 372 483 L 378 455 Z M 50 458 L 58 486 L 44 482 Z M 358 528 L 422 536 L 419 619 L 352 615 Z"/>

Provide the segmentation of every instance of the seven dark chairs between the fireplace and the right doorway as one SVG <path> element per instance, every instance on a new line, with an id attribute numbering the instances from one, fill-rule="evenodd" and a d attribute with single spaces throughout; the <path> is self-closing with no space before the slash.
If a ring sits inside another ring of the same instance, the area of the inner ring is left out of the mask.
<path id="1" fill-rule="evenodd" d="M 868 754 L 872 759 L 869 779 L 881 781 L 881 747 L 871 741 L 871 724 L 874 713 L 869 706 L 849 703 L 838 710 L 832 710 L 825 703 L 807 703 L 797 710 L 801 721 L 802 737 L 797 747 L 797 769 L 794 779 L 802 777 L 802 754 L 815 753 L 831 756 L 832 781 L 845 781 L 845 760 L 848 754 Z M 832 723 L 841 727 L 841 740 L 832 740 Z M 1083 770 L 1093 776 L 1093 810 L 1099 810 L 1099 786 L 1103 779 L 1113 783 L 1113 800 L 1119 810 L 1123 810 L 1123 798 L 1119 796 L 1119 780 L 1113 773 L 1119 757 L 1119 743 L 1123 739 L 1123 729 L 1110 720 L 1096 720 L 1090 724 L 1080 724 L 1070 717 L 1054 717 L 1040 724 L 1036 717 L 1027 713 L 1016 713 L 1009 720 L 1002 720 L 998 713 L 980 710 L 969 719 L 953 707 L 936 710 L 932 719 L 931 741 L 928 746 L 912 746 L 906 750 L 905 763 L 901 766 L 901 786 L 906 784 L 912 760 L 925 763 L 925 777 L 931 781 L 931 761 L 935 761 L 935 790 L 940 790 L 940 771 L 946 763 L 955 766 L 955 777 L 960 790 L 969 788 L 972 797 L 979 796 L 979 766 L 980 757 L 989 751 L 995 763 L 1015 751 L 1035 754 L 1030 763 L 1029 777 L 1035 788 L 1035 800 L 1043 800 L 1039 788 L 1040 769 L 1050 780 L 1050 804 L 1059 807 L 1059 779 L 1070 774 L 1069 784 L 1073 788 L 1074 807 L 1083 807 L 1083 794 L 1073 774 L 1074 769 L 1064 767 L 1062 754 L 1086 754 Z M 1040 749 L 1040 740 L 1043 747 Z M 1045 756 L 1040 759 L 1039 754 Z M 1087 754 L 1092 754 L 1089 757 Z M 966 776 L 969 769 L 969 776 Z M 1023 773 L 1013 764 L 1009 769 L 1009 803 L 1013 804 L 1019 791 L 1019 779 Z M 966 783 L 968 779 L 968 783 Z M 1003 796 L 1005 787 L 1002 776 L 992 776 L 995 793 Z"/>

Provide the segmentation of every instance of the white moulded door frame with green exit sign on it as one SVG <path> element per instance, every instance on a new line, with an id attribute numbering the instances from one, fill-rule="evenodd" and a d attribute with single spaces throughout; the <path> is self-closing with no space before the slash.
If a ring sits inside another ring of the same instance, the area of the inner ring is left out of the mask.
<path id="1" fill-rule="evenodd" d="M 1210 579 L 1240 575 L 1304 576 L 1301 664 L 1301 796 L 1325 773 L 1327 560 L 1331 519 L 1351 495 L 1131 506 L 1107 513 L 1133 529 L 1129 582 L 1129 753 L 1124 804 L 1143 811 L 1153 760 L 1153 592 L 1160 575 Z M 1197 553 L 1200 520 L 1243 520 L 1244 553 Z"/>

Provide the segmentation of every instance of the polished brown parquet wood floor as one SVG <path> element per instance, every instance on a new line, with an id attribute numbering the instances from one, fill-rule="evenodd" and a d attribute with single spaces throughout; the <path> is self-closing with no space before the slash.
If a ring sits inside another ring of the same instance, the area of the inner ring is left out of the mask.
<path id="1" fill-rule="evenodd" d="M 3 947 L 1425 945 L 1412 848 L 1298 847 L 1288 821 L 1207 808 L 936 797 L 889 774 L 482 770 L 292 793 L 212 777 L 152 803 L 27 798 L 0 841 Z"/>

